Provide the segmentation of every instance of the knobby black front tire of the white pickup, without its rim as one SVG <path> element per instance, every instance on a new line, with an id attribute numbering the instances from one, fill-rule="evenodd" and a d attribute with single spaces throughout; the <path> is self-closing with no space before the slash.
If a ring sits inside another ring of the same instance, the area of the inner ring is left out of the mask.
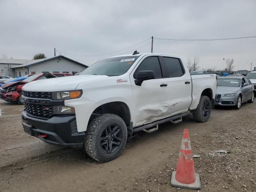
<path id="1" fill-rule="evenodd" d="M 111 154 L 105 153 L 100 146 L 100 137 L 102 131 L 110 124 L 118 124 L 122 130 L 122 141 L 120 147 Z M 108 162 L 117 158 L 126 145 L 127 127 L 122 118 L 115 114 L 101 114 L 97 116 L 87 127 L 84 138 L 84 149 L 86 153 L 99 162 Z"/>

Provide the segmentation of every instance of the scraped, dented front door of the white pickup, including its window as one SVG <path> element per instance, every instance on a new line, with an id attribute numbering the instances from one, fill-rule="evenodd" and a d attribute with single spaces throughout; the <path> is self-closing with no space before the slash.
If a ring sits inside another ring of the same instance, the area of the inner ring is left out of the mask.
<path id="1" fill-rule="evenodd" d="M 161 119 L 170 113 L 167 102 L 168 87 L 162 77 L 162 70 L 157 56 L 147 57 L 138 64 L 138 68 L 130 74 L 134 105 L 134 126 L 140 126 Z M 153 70 L 154 79 L 145 80 L 141 86 L 135 84 L 139 71 Z"/>

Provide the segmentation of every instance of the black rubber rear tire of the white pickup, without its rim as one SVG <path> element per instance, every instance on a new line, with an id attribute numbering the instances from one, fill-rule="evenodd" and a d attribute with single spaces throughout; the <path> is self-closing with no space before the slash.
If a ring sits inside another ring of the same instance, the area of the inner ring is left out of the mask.
<path id="1" fill-rule="evenodd" d="M 206 102 L 208 102 L 208 105 L 209 105 L 209 109 L 208 109 L 209 114 L 208 114 L 207 117 L 204 116 L 204 114 L 203 114 L 204 104 Z M 211 109 L 212 109 L 212 104 L 211 104 L 211 101 L 210 101 L 209 97 L 208 96 L 201 96 L 197 108 L 193 111 L 194 120 L 197 121 L 197 122 L 206 122 L 210 117 Z"/>

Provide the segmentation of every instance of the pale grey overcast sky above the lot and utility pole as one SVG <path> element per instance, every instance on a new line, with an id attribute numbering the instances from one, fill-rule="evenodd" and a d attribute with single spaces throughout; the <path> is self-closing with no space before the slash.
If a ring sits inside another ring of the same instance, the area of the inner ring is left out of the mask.
<path id="1" fill-rule="evenodd" d="M 137 48 L 138 52 L 150 52 L 151 36 L 256 36 L 256 1 L 0 0 L 0 56 L 31 59 L 43 52 L 52 57 L 56 48 L 57 55 L 90 65 Z M 70 55 L 118 50 L 122 51 L 102 56 Z M 236 70 L 250 70 L 250 62 L 256 66 L 256 38 L 195 42 L 154 39 L 153 52 L 178 55 L 184 60 L 198 56 L 200 69 L 224 69 L 223 58 L 234 58 Z"/>

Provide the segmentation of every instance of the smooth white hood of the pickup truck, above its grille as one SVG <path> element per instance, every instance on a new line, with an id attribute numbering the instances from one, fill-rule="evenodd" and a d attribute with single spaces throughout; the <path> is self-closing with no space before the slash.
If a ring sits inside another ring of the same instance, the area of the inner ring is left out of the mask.
<path id="1" fill-rule="evenodd" d="M 65 91 L 75 90 L 76 87 L 83 82 L 111 78 L 106 75 L 74 75 L 58 78 L 49 78 L 43 80 L 32 81 L 22 87 L 25 91 Z"/>

